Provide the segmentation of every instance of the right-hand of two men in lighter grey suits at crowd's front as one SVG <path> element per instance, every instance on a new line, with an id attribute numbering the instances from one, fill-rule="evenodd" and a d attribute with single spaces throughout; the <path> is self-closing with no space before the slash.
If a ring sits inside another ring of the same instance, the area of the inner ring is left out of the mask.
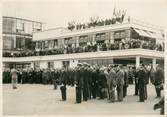
<path id="1" fill-rule="evenodd" d="M 118 101 L 123 101 L 124 71 L 122 65 L 118 66 L 116 80 L 117 80 L 117 98 Z"/>

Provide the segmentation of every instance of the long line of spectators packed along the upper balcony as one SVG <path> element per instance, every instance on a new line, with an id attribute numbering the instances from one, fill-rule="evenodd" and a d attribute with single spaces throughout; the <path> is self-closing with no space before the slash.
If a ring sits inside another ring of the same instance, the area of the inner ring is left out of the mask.
<path id="1" fill-rule="evenodd" d="M 110 51 L 120 49 L 135 49 L 143 48 L 157 51 L 164 51 L 164 46 L 161 44 L 155 44 L 151 41 L 135 40 L 122 40 L 115 43 L 86 43 L 83 46 L 76 46 L 76 44 L 64 45 L 64 47 L 44 50 L 26 50 L 17 53 L 3 52 L 4 57 L 27 57 L 27 56 L 45 56 L 45 55 L 57 55 L 57 54 L 70 54 L 70 53 L 83 53 L 83 52 L 97 52 L 97 51 Z"/>

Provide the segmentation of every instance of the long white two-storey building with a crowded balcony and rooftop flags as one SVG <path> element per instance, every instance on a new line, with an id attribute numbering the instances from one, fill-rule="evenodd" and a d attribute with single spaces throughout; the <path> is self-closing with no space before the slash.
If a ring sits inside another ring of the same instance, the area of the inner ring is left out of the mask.
<path id="1" fill-rule="evenodd" d="M 164 63 L 165 35 L 159 26 L 134 19 L 72 31 L 66 28 L 42 30 L 42 24 L 39 24 L 38 32 L 32 35 L 33 50 L 19 56 L 6 55 L 3 51 L 4 68 L 11 65 L 34 69 L 75 67 L 78 62 L 136 67 L 145 63 L 155 68 L 157 63 Z M 3 50 L 7 47 L 4 35 Z M 27 46 L 26 43 L 23 45 Z"/>

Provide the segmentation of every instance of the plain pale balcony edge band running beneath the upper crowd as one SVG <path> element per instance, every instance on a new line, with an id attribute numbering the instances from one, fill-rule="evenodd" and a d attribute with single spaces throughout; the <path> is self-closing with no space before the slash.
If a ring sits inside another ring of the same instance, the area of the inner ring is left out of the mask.
<path id="1" fill-rule="evenodd" d="M 163 60 L 164 52 L 148 50 L 148 49 L 124 49 L 124 50 L 108 50 L 86 53 L 70 53 L 59 55 L 41 55 L 29 57 L 3 57 L 3 62 L 35 62 L 35 61 L 69 61 L 69 60 L 90 60 L 90 59 L 104 59 L 104 58 L 156 58 Z"/>

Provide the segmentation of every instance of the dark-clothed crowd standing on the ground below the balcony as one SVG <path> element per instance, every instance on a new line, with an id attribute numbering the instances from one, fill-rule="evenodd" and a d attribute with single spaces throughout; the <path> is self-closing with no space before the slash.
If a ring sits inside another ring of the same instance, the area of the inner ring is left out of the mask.
<path id="1" fill-rule="evenodd" d="M 13 80 L 14 78 L 14 80 Z M 17 81 L 16 81 L 17 80 Z M 129 84 L 135 84 L 135 95 L 139 95 L 139 101 L 147 99 L 147 84 L 155 86 L 157 97 L 161 97 L 163 89 L 164 71 L 159 65 L 154 70 L 152 67 L 142 64 L 139 68 L 123 65 L 98 66 L 87 63 L 79 63 L 75 68 L 62 69 L 20 69 L 3 71 L 3 83 L 37 83 L 53 84 L 54 88 L 60 85 L 62 100 L 66 100 L 67 86 L 76 86 L 76 102 L 82 99 L 108 98 L 115 102 L 117 91 L 118 101 L 123 101 L 127 95 Z"/>

